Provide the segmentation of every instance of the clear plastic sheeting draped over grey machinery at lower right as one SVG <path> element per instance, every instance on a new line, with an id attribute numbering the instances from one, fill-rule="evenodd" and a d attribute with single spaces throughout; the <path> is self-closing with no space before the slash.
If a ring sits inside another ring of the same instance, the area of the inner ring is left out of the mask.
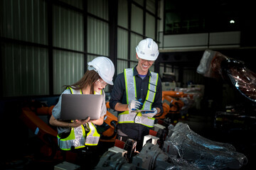
<path id="1" fill-rule="evenodd" d="M 200 169 L 240 169 L 247 164 L 247 157 L 236 152 L 233 145 L 201 137 L 181 122 L 169 126 L 163 150 L 170 157 L 176 155 Z"/>

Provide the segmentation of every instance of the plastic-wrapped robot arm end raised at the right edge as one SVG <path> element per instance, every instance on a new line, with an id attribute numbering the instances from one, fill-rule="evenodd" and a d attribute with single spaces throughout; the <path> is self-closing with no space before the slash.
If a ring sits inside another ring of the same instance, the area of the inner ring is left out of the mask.
<path id="1" fill-rule="evenodd" d="M 226 57 L 220 52 L 206 50 L 197 72 L 205 77 L 223 78 L 250 101 L 256 102 L 256 74 L 241 61 Z"/>

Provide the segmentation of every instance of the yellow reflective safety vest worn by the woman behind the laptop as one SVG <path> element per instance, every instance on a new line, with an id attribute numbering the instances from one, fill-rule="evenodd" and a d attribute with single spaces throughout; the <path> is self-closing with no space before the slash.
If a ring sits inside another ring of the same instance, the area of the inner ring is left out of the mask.
<path id="1" fill-rule="evenodd" d="M 71 94 L 82 94 L 81 90 L 75 90 L 70 87 L 68 89 L 70 89 Z M 71 147 L 79 149 L 85 146 L 96 146 L 100 140 L 100 134 L 97 132 L 93 123 L 86 123 L 85 126 L 80 125 L 76 128 L 71 128 L 70 134 L 65 138 L 58 134 L 58 145 L 60 149 L 70 150 Z M 89 129 L 89 132 L 85 129 Z"/>

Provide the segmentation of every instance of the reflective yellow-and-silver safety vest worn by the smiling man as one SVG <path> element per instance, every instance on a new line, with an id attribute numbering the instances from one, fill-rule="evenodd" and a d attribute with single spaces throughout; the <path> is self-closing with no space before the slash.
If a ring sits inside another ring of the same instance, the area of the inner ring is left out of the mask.
<path id="1" fill-rule="evenodd" d="M 151 72 L 151 77 L 149 77 L 149 89 L 147 91 L 142 110 L 151 110 L 152 103 L 154 102 L 154 98 L 156 96 L 156 86 L 158 79 L 159 74 Z M 129 104 L 132 100 L 137 99 L 136 81 L 133 68 L 124 69 L 124 80 L 127 94 L 127 104 Z M 154 120 L 155 118 L 149 118 L 146 116 L 146 114 L 135 113 L 131 111 L 124 111 L 118 115 L 118 123 L 138 123 L 149 128 L 154 127 Z"/>

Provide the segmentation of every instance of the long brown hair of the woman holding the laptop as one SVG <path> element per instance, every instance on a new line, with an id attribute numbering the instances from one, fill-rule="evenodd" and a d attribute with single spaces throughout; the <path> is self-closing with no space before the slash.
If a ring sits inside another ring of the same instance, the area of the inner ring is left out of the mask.
<path id="1" fill-rule="evenodd" d="M 98 79 L 100 79 L 100 75 L 97 74 L 95 70 L 87 70 L 78 82 L 72 85 L 65 85 L 65 89 L 67 89 L 67 87 L 71 87 L 72 89 L 80 90 L 89 86 L 90 94 L 94 94 L 94 84 Z"/>

